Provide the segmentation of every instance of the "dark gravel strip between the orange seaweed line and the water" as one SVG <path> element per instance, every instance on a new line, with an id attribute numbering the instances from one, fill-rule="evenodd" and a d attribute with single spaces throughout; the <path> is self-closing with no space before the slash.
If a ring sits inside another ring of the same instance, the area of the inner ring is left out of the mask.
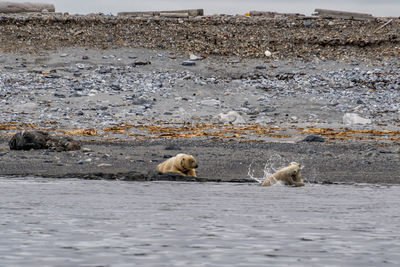
<path id="1" fill-rule="evenodd" d="M 0 139 L 1 143 L 6 140 Z M 374 145 L 308 142 L 219 142 L 196 139 L 85 141 L 83 149 L 10 151 L 1 156 L 1 176 L 118 179 L 130 181 L 197 181 L 254 183 L 288 162 L 303 166 L 309 183 L 398 184 L 400 149 Z M 160 174 L 156 166 L 185 152 L 199 162 L 198 178 Z"/>

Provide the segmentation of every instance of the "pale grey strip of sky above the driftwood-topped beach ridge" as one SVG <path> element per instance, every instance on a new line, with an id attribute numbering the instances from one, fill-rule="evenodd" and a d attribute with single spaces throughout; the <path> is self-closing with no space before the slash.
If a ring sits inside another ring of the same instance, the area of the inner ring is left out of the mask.
<path id="1" fill-rule="evenodd" d="M 13 2 L 27 2 L 14 0 Z M 398 0 L 30 0 L 29 2 L 47 2 L 56 7 L 56 11 L 71 14 L 87 14 L 103 12 L 117 14 L 120 11 L 153 11 L 203 8 L 208 15 L 212 14 L 244 14 L 250 10 L 297 12 L 311 15 L 316 8 L 344 10 L 373 14 L 374 16 L 400 16 Z"/>

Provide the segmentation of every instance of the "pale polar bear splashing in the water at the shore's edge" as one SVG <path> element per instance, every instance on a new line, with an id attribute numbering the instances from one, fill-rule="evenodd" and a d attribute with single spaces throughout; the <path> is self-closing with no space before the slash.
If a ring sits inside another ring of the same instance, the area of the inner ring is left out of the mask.
<path id="1" fill-rule="evenodd" d="M 290 162 L 289 166 L 284 167 L 271 176 L 267 177 L 262 186 L 276 184 L 278 181 L 283 181 L 287 185 L 304 186 L 303 178 L 300 173 L 301 165 L 297 162 Z"/>

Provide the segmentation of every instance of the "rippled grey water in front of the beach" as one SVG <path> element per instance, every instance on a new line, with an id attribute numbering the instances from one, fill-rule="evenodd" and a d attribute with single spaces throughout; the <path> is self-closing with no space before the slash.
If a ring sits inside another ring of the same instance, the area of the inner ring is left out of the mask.
<path id="1" fill-rule="evenodd" d="M 400 264 L 399 186 L 0 178 L 2 266 Z"/>

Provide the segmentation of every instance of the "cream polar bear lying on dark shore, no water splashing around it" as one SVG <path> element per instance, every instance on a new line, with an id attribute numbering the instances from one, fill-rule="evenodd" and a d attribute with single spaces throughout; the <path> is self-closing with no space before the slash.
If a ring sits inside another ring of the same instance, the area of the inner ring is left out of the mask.
<path id="1" fill-rule="evenodd" d="M 184 176 L 196 177 L 196 171 L 194 169 L 198 166 L 192 155 L 180 153 L 158 164 L 157 170 L 159 172 L 176 172 Z"/>

